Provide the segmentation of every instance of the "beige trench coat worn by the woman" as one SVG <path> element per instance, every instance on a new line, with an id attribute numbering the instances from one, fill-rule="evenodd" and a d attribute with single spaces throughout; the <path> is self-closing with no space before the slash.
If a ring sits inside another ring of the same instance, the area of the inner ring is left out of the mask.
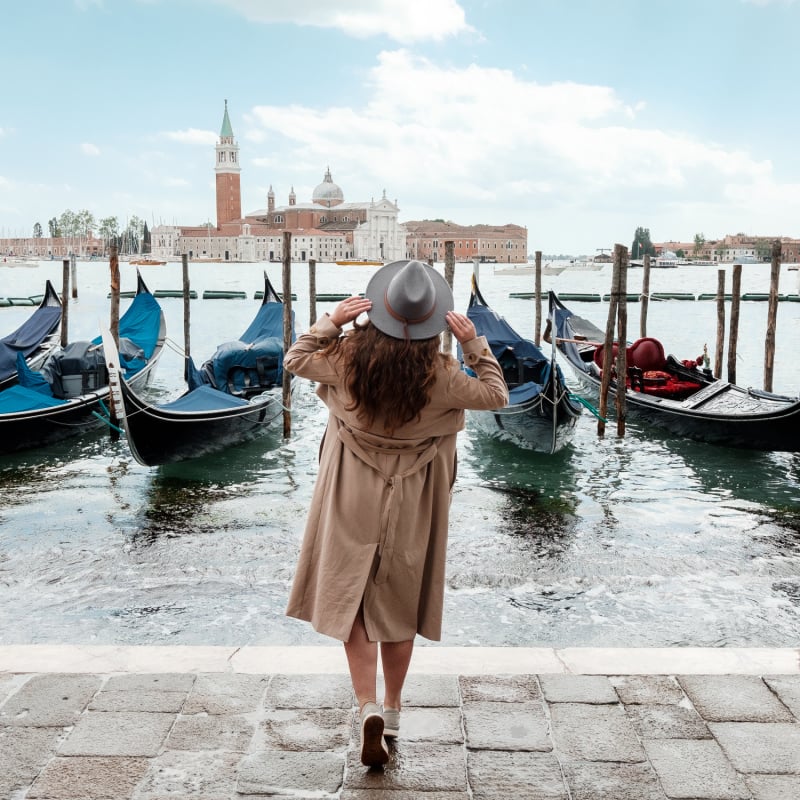
<path id="1" fill-rule="evenodd" d="M 359 606 L 372 641 L 441 638 L 450 492 L 464 409 L 506 405 L 502 371 L 484 337 L 464 345 L 467 376 L 442 368 L 421 418 L 382 435 L 347 411 L 337 357 L 319 352 L 341 331 L 326 315 L 286 353 L 328 406 L 314 488 L 286 613 L 347 641 Z"/>

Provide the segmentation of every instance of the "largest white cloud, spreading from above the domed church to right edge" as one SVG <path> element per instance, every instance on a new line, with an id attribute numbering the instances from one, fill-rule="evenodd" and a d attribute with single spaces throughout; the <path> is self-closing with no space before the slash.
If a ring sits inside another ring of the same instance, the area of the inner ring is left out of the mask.
<path id="1" fill-rule="evenodd" d="M 539 84 L 398 50 L 380 55 L 367 89 L 355 108 L 255 107 L 246 136 L 265 142 L 248 148 L 264 170 L 259 181 L 279 197 L 291 181 L 307 200 L 330 165 L 346 199 L 385 187 L 404 219 L 445 215 L 465 224 L 531 225 L 618 206 L 632 231 L 643 217 L 678 219 L 684 205 L 725 210 L 756 200 L 772 214 L 771 229 L 790 230 L 800 216 L 800 194 L 777 182 L 769 160 L 637 125 L 638 98 L 627 102 L 606 86 Z M 733 214 L 720 234 L 740 224 Z"/>

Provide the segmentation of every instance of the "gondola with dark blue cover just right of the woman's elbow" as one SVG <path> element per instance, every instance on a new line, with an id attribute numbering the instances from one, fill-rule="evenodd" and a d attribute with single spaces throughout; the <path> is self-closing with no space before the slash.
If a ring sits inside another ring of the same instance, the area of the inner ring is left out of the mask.
<path id="1" fill-rule="evenodd" d="M 572 438 L 582 405 L 567 389 L 555 362 L 555 349 L 547 356 L 530 339 L 520 336 L 487 305 L 474 277 L 467 317 L 478 335 L 487 338 L 509 389 L 507 406 L 470 411 L 470 418 L 479 429 L 529 450 L 561 450 Z M 463 366 L 460 346 L 458 357 Z"/>

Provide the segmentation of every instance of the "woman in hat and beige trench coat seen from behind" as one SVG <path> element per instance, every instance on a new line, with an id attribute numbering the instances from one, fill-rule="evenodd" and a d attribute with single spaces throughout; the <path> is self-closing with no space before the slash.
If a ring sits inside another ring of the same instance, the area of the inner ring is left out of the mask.
<path id="1" fill-rule="evenodd" d="M 328 406 L 319 475 L 287 614 L 344 642 L 361 713 L 361 761 L 389 758 L 414 637 L 441 638 L 450 492 L 464 409 L 508 402 L 502 371 L 447 282 L 396 261 L 286 353 Z M 368 312 L 369 321 L 356 318 Z M 342 336 L 342 328 L 354 323 Z M 450 326 L 469 377 L 439 334 Z M 376 703 L 380 643 L 385 693 Z"/>

